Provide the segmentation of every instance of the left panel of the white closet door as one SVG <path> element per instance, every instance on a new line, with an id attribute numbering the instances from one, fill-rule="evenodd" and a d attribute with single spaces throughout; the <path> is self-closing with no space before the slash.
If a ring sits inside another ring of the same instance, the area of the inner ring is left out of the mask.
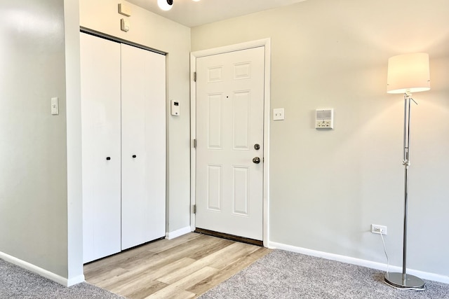
<path id="1" fill-rule="evenodd" d="M 121 250 L 120 43 L 81 34 L 83 262 Z"/>

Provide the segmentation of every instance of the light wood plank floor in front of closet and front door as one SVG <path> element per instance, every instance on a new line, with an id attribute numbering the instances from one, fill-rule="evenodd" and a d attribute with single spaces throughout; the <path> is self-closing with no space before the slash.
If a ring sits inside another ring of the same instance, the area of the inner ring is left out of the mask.
<path id="1" fill-rule="evenodd" d="M 84 275 L 129 299 L 196 298 L 269 252 L 191 232 L 84 265 Z"/>

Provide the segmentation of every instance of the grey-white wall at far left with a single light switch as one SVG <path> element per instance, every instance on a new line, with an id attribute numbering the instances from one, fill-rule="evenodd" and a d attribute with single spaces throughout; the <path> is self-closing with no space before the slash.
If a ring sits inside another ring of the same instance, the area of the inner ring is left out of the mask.
<path id="1" fill-rule="evenodd" d="M 0 253 L 67 277 L 63 2 L 9 1 L 0 15 Z"/>

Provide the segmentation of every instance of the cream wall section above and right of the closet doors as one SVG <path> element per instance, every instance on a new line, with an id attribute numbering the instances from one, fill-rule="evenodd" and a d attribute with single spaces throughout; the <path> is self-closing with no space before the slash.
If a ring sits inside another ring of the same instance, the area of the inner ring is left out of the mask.
<path id="1" fill-rule="evenodd" d="M 81 0 L 80 25 L 126 41 L 139 43 L 167 55 L 168 190 L 167 232 L 189 228 L 189 51 L 190 29 L 129 4 L 130 31 L 122 32 L 119 1 Z M 170 99 L 180 102 L 180 116 L 170 116 Z"/>

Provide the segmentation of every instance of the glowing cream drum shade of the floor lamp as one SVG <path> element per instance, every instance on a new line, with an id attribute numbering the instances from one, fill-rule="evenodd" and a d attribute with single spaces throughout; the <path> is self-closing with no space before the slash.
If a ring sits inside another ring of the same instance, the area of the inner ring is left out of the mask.
<path id="1" fill-rule="evenodd" d="M 403 54 L 388 60 L 387 92 L 406 93 L 430 90 L 429 55 Z"/>

